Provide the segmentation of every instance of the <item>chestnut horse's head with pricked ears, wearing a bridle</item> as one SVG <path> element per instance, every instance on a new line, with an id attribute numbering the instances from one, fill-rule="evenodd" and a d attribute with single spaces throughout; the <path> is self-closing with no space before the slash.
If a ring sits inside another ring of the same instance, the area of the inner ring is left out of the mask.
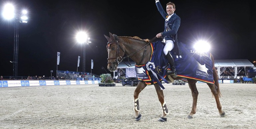
<path id="1" fill-rule="evenodd" d="M 118 36 L 109 32 L 110 37 L 104 35 L 108 40 L 107 52 L 108 52 L 108 70 L 111 72 L 117 69 L 120 62 L 123 61 L 124 50 L 120 47 L 118 42 Z M 120 51 L 121 48 L 121 51 Z"/>

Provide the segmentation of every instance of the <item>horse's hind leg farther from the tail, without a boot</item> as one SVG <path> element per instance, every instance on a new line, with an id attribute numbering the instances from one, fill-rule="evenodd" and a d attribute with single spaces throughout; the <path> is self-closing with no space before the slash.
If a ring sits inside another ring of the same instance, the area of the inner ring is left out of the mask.
<path id="1" fill-rule="evenodd" d="M 195 85 L 196 80 L 188 79 L 188 83 L 189 83 L 189 88 L 191 90 L 191 94 L 192 94 L 192 98 L 193 98 L 193 103 L 192 103 L 191 112 L 189 113 L 187 118 L 192 119 L 193 115 L 196 112 L 196 104 L 197 104 L 198 91 L 197 91 L 197 88 L 196 88 L 196 85 Z"/>

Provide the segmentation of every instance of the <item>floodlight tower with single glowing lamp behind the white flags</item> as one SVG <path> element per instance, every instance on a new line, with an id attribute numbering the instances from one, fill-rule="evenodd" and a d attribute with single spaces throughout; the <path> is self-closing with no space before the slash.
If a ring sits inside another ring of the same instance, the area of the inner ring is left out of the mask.
<path id="1" fill-rule="evenodd" d="M 87 37 L 87 34 L 85 32 L 78 32 L 76 34 L 76 40 L 78 43 L 82 44 L 82 48 L 83 48 L 83 70 L 82 72 L 85 72 L 85 45 L 88 45 L 89 43 L 91 43 L 90 38 Z"/>

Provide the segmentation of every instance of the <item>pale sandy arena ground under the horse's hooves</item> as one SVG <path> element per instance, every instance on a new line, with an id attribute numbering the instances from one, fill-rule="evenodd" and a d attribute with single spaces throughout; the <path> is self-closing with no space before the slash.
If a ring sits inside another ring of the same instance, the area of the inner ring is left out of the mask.
<path id="1" fill-rule="evenodd" d="M 136 122 L 133 92 L 136 87 L 92 85 L 0 88 L 1 129 L 256 129 L 256 84 L 220 84 L 220 102 L 226 112 L 219 117 L 209 87 L 198 83 L 197 112 L 188 84 L 164 84 L 170 114 L 162 114 L 154 86 L 139 96 L 142 119 Z"/>

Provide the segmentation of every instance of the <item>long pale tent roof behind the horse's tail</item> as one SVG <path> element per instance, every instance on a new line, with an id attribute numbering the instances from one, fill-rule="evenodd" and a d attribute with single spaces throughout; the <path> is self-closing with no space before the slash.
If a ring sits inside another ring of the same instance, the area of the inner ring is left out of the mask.
<path id="1" fill-rule="evenodd" d="M 241 59 L 241 60 L 214 60 L 214 66 L 220 66 L 220 67 L 252 67 L 253 64 L 247 60 L 247 59 Z"/>

